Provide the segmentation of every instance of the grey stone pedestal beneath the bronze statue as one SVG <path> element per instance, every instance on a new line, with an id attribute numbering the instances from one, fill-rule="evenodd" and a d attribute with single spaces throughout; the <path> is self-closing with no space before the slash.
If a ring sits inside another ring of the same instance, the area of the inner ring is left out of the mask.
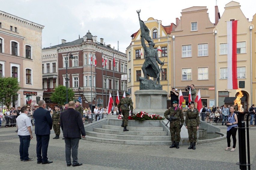
<path id="1" fill-rule="evenodd" d="M 133 113 L 144 111 L 163 116 L 167 110 L 168 92 L 165 90 L 137 90 L 134 94 L 136 108 L 133 109 Z"/>

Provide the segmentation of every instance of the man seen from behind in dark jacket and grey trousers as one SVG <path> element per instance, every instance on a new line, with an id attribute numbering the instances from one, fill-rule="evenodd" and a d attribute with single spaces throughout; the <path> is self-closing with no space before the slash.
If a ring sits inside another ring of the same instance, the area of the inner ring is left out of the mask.
<path id="1" fill-rule="evenodd" d="M 66 148 L 66 162 L 67 166 L 71 166 L 71 148 L 72 148 L 72 166 L 81 166 L 82 163 L 78 163 L 77 153 L 79 139 L 85 137 L 84 123 L 81 117 L 81 113 L 75 110 L 75 102 L 69 102 L 68 110 L 60 114 L 60 127 L 65 137 Z"/>

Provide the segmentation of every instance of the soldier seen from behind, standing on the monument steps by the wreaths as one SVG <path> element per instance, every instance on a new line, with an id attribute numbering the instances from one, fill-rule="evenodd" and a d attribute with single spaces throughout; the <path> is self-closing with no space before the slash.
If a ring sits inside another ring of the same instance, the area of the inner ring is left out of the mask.
<path id="1" fill-rule="evenodd" d="M 129 93 L 125 93 L 125 98 L 122 98 L 121 101 L 119 102 L 119 104 L 117 105 L 118 108 L 118 112 L 119 114 L 123 113 L 123 121 L 122 121 L 122 127 L 123 127 L 123 131 L 129 131 L 128 129 L 126 129 L 127 125 L 128 125 L 128 117 L 129 117 L 129 112 L 131 109 L 131 112 L 133 114 L 133 101 L 132 99 L 130 99 L 130 94 Z M 130 109 L 129 109 L 130 106 Z M 121 108 L 121 110 L 120 110 Z"/>

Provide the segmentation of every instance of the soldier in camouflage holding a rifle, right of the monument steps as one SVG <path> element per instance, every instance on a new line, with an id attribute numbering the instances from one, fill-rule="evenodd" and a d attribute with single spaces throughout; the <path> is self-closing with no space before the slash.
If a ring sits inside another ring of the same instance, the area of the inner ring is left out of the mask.
<path id="1" fill-rule="evenodd" d="M 179 147 L 179 142 L 181 140 L 181 127 L 184 123 L 184 116 L 182 109 L 178 108 L 178 102 L 173 101 L 172 106 L 164 112 L 164 117 L 170 121 L 170 132 L 171 132 L 171 141 L 172 145 L 170 148 Z M 170 115 L 170 117 L 168 117 Z"/>

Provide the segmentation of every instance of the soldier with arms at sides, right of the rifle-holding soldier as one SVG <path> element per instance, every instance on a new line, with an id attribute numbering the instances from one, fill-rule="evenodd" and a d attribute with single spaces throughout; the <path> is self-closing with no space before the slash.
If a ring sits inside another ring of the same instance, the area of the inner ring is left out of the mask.
<path id="1" fill-rule="evenodd" d="M 199 129 L 200 125 L 199 111 L 194 108 L 194 101 L 190 101 L 189 105 L 190 109 L 187 110 L 185 121 L 188 132 L 188 139 L 190 142 L 190 147 L 188 147 L 188 149 L 196 149 L 197 130 Z"/>

